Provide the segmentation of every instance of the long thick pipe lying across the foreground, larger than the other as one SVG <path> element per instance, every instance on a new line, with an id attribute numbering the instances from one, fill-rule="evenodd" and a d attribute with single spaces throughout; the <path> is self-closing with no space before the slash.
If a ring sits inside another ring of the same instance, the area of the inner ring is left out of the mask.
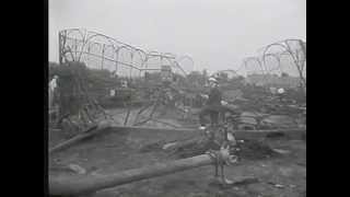
<path id="1" fill-rule="evenodd" d="M 140 169 L 128 170 L 110 175 L 92 176 L 77 175 L 68 177 L 49 176 L 49 194 L 58 196 L 74 196 L 90 194 L 100 189 L 110 188 L 141 179 L 163 176 L 175 172 L 213 164 L 208 154 L 194 158 L 155 163 Z"/>

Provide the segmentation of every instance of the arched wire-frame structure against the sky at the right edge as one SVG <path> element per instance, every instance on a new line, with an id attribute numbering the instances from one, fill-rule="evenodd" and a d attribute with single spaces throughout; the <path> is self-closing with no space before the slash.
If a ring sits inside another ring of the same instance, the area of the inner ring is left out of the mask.
<path id="1" fill-rule="evenodd" d="M 306 42 L 284 39 L 270 44 L 259 55 L 245 58 L 238 70 L 254 81 L 270 85 L 279 77 L 288 76 L 290 78 L 283 79 L 285 83 L 301 84 L 306 89 Z"/>

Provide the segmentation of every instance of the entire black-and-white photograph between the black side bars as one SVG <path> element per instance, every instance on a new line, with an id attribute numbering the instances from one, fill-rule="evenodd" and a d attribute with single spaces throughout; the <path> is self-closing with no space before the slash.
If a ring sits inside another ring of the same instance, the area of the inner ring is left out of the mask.
<path id="1" fill-rule="evenodd" d="M 306 197 L 305 0 L 48 0 L 47 44 L 50 196 Z"/>

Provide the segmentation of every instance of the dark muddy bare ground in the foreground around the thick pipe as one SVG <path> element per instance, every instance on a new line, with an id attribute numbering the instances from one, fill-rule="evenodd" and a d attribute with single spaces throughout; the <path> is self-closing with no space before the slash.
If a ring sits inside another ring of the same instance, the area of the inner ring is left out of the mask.
<path id="1" fill-rule="evenodd" d="M 114 113 L 114 112 L 110 112 Z M 174 123 L 178 124 L 178 123 Z M 158 125 L 160 126 L 160 125 Z M 188 125 L 187 125 L 188 126 Z M 159 149 L 142 151 L 147 144 L 158 141 L 186 139 L 200 135 L 192 132 L 165 131 L 116 131 L 84 140 L 79 144 L 57 152 L 49 159 L 51 175 L 74 175 L 61 166 L 78 164 L 88 174 L 109 174 L 155 162 L 175 160 L 176 155 Z M 50 130 L 49 147 L 65 137 L 60 131 Z M 260 139 L 278 154 L 245 157 L 238 164 L 225 167 L 225 175 L 233 181 L 255 177 L 254 182 L 241 183 L 222 188 L 212 184 L 213 166 L 202 166 L 165 176 L 97 192 L 96 197 L 301 197 L 306 196 L 306 141 L 287 139 Z M 264 153 L 261 153 L 264 154 Z"/>

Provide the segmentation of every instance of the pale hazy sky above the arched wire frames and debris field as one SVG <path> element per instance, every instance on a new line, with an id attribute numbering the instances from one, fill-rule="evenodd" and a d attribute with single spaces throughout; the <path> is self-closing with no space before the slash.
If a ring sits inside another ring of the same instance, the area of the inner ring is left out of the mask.
<path id="1" fill-rule="evenodd" d="M 306 0 L 49 0 L 50 61 L 58 31 L 72 27 L 189 55 L 196 69 L 237 69 L 270 43 L 306 40 Z"/>

